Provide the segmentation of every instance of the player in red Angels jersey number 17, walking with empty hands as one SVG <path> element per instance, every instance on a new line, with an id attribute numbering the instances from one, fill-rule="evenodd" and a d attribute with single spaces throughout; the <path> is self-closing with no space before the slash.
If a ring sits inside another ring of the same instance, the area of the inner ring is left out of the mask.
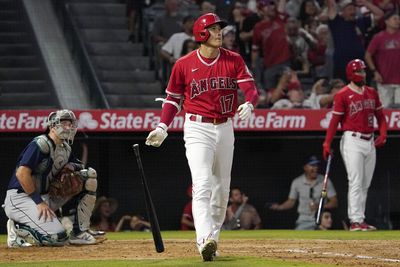
<path id="1" fill-rule="evenodd" d="M 200 48 L 174 65 L 166 89 L 160 123 L 146 144 L 158 147 L 167 137 L 175 114 L 186 112 L 184 141 L 193 183 L 193 218 L 199 252 L 212 261 L 224 222 L 231 169 L 234 134 L 232 117 L 239 112 L 247 120 L 257 103 L 254 79 L 242 57 L 221 48 L 222 28 L 227 23 L 213 14 L 199 17 L 194 26 Z M 238 106 L 238 89 L 246 102 Z"/>

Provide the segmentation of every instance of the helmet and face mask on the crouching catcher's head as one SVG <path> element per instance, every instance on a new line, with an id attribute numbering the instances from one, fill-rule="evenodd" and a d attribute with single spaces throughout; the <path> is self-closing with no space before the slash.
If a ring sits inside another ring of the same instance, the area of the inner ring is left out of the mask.
<path id="1" fill-rule="evenodd" d="M 70 124 L 67 124 L 67 121 L 69 121 Z M 78 129 L 78 122 L 75 114 L 71 110 L 62 109 L 49 114 L 47 118 L 47 127 L 55 127 L 57 137 L 67 141 L 68 144 L 72 144 Z"/>

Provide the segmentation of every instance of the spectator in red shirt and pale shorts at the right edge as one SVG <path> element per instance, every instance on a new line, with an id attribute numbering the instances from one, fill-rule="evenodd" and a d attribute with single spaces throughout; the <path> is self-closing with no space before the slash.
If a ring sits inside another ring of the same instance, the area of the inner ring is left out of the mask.
<path id="1" fill-rule="evenodd" d="M 386 29 L 376 34 L 365 53 L 365 61 L 377 83 L 385 108 L 400 105 L 400 16 L 397 10 L 385 14 Z"/>

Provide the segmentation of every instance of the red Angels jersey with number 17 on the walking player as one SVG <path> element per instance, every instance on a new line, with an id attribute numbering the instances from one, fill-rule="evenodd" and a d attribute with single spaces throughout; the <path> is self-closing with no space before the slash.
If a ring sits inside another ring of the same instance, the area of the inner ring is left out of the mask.
<path id="1" fill-rule="evenodd" d="M 254 82 L 242 57 L 219 48 L 218 56 L 210 63 L 199 50 L 176 61 L 172 68 L 166 93 L 184 96 L 183 109 L 187 113 L 205 117 L 233 117 L 238 106 L 238 84 Z"/>

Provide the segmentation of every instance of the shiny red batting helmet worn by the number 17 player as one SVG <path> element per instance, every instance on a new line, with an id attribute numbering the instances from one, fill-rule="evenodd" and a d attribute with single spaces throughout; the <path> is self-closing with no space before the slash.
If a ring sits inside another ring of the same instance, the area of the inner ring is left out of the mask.
<path id="1" fill-rule="evenodd" d="M 206 42 L 210 37 L 210 33 L 207 28 L 211 25 L 219 24 L 221 28 L 224 28 L 228 23 L 221 20 L 214 13 L 207 13 L 199 17 L 193 25 L 193 35 L 196 42 Z"/>

